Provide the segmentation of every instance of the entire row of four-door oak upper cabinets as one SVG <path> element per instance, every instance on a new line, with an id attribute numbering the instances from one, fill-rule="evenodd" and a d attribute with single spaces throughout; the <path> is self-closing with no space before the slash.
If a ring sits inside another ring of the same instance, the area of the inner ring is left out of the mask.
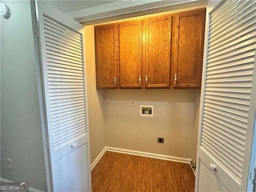
<path id="1" fill-rule="evenodd" d="M 96 87 L 200 87 L 205 15 L 199 9 L 96 26 Z"/>

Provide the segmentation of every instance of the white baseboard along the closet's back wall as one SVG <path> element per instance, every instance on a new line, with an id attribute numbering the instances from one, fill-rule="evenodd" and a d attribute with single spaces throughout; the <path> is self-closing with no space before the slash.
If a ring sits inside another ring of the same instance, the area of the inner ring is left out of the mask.
<path id="1" fill-rule="evenodd" d="M 156 158 L 156 159 L 162 159 L 162 160 L 168 160 L 168 161 L 189 163 L 189 164 L 190 164 L 190 161 L 191 161 L 191 159 L 182 158 L 182 157 L 174 157 L 174 156 L 161 155 L 161 154 L 148 153 L 148 152 L 141 152 L 141 151 L 134 151 L 134 150 L 128 150 L 128 149 L 120 149 L 120 148 L 114 148 L 114 147 L 106 147 L 106 151 L 125 153 L 125 154 L 137 155 L 137 156 L 143 156 L 143 157 L 150 157 L 150 158 Z"/>

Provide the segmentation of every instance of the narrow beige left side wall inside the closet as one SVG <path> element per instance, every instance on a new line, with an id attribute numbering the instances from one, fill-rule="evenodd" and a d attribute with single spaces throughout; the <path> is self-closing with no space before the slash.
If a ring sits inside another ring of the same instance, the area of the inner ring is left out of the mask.
<path id="1" fill-rule="evenodd" d="M 91 163 L 106 146 L 104 90 L 96 90 L 94 26 L 84 27 Z"/>

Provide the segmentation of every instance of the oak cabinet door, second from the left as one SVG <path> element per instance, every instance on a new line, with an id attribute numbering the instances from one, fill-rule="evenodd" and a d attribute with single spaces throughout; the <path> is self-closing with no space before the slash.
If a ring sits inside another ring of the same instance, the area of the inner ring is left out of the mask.
<path id="1" fill-rule="evenodd" d="M 142 68 L 142 22 L 119 25 L 120 87 L 140 88 Z"/>

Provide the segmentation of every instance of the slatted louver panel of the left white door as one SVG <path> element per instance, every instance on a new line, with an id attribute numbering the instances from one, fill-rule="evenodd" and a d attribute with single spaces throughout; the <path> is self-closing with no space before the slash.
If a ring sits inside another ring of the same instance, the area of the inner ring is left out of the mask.
<path id="1" fill-rule="evenodd" d="M 82 36 L 44 16 L 54 150 L 86 134 Z"/>

